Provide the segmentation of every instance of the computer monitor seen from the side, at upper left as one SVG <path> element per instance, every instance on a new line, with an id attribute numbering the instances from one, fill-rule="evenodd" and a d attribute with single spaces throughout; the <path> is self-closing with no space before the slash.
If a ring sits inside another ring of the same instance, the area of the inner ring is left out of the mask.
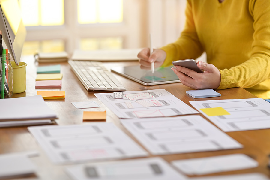
<path id="1" fill-rule="evenodd" d="M 3 44 L 6 45 L 15 63 L 19 65 L 26 28 L 22 23 L 18 0 L 0 0 L 0 29 L 2 29 Z"/>

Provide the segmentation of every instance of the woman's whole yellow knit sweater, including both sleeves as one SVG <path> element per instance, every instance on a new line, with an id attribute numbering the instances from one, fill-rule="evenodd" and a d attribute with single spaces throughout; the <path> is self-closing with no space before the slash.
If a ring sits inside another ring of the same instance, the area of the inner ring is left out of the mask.
<path id="1" fill-rule="evenodd" d="M 161 49 L 163 66 L 205 51 L 220 69 L 218 89 L 242 87 L 270 99 L 270 0 L 187 0 L 184 31 Z"/>

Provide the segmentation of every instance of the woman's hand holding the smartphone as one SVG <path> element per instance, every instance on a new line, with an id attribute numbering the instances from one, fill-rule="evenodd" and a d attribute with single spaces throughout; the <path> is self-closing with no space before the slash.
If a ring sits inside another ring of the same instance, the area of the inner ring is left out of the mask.
<path id="1" fill-rule="evenodd" d="M 198 61 L 197 66 L 205 70 L 197 73 L 181 66 L 174 66 L 172 70 L 179 77 L 182 84 L 193 89 L 217 89 L 220 85 L 220 72 L 213 64 Z"/>

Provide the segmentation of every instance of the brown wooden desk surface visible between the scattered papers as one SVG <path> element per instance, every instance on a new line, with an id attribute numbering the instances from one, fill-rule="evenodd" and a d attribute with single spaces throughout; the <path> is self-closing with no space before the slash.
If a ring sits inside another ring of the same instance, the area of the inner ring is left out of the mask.
<path id="1" fill-rule="evenodd" d="M 96 101 L 100 104 L 103 109 L 107 111 L 107 122 L 115 123 L 119 128 L 121 128 L 126 134 L 132 137 L 137 143 L 139 143 L 119 122 L 118 117 L 110 111 L 98 98 L 95 97 L 94 92 L 88 92 L 84 86 L 79 82 L 77 77 L 71 71 L 68 63 L 50 63 L 50 64 L 38 64 L 34 62 L 32 56 L 23 57 L 23 62 L 28 65 L 26 67 L 26 91 L 20 94 L 14 94 L 15 97 L 32 96 L 37 95 L 37 90 L 35 89 L 35 78 L 36 78 L 36 68 L 41 65 L 54 65 L 61 64 L 61 73 L 63 73 L 62 79 L 62 91 L 66 92 L 66 99 L 58 100 L 45 100 L 46 104 L 58 113 L 58 124 L 59 125 L 70 125 L 70 124 L 81 124 L 89 123 L 82 122 L 82 112 L 83 110 L 76 109 L 71 102 L 80 101 Z M 104 62 L 104 64 L 110 67 L 116 67 L 119 65 L 133 65 L 138 64 L 138 62 Z M 128 89 L 128 91 L 138 91 L 138 90 L 150 90 L 150 89 L 166 89 L 177 98 L 181 99 L 188 105 L 189 101 L 196 101 L 198 99 L 193 99 L 186 95 L 186 90 L 191 90 L 181 83 L 165 84 L 165 85 L 153 85 L 144 86 L 137 82 L 134 82 L 125 77 L 114 74 L 117 79 L 122 82 L 122 84 Z M 46 89 L 40 89 L 41 91 Z M 106 91 L 95 91 L 95 93 L 103 93 Z M 199 100 L 214 100 L 214 99 L 242 99 L 242 98 L 257 98 L 256 96 L 245 91 L 243 88 L 231 88 L 225 90 L 219 90 L 221 97 L 216 98 L 200 98 Z M 191 106 L 191 105 L 190 105 Z M 191 106 L 192 107 L 192 106 Z M 12 108 L 12 107 L 10 107 Z M 94 108 L 91 110 L 100 111 L 101 108 Z M 16 110 L 14 110 L 16 112 Z M 202 114 L 200 114 L 202 116 Z M 162 155 L 166 161 L 170 162 L 172 160 L 178 159 L 188 159 L 188 158 L 200 158 L 215 155 L 227 155 L 233 153 L 244 153 L 250 157 L 256 159 L 259 162 L 259 167 L 247 170 L 230 171 L 223 173 L 215 173 L 212 175 L 223 175 L 223 174 L 240 174 L 240 173 L 250 173 L 258 172 L 263 173 L 270 177 L 270 171 L 267 168 L 268 154 L 270 153 L 270 129 L 264 130 L 254 130 L 254 131 L 238 131 L 229 132 L 229 136 L 237 140 L 239 143 L 244 145 L 243 149 L 231 149 L 231 150 L 221 150 L 221 151 L 211 151 L 211 152 L 195 152 L 195 153 L 184 153 L 176 155 Z M 140 143 L 139 143 L 140 144 Z M 32 176 L 29 179 L 70 179 L 63 170 L 64 166 L 57 166 L 50 162 L 46 154 L 40 148 L 38 143 L 35 141 L 34 137 L 29 133 L 27 127 L 16 127 L 16 128 L 1 128 L 0 129 L 0 153 L 10 153 L 10 152 L 21 152 L 27 150 L 38 150 L 41 155 L 39 157 L 31 158 L 31 160 L 38 165 L 38 173 L 36 176 Z M 152 156 L 152 155 L 150 155 Z M 24 178 L 27 179 L 27 178 Z"/>

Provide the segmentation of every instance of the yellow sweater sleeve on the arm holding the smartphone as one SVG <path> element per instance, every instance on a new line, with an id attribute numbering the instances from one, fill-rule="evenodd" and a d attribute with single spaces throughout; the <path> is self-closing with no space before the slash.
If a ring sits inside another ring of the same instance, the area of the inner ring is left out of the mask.
<path id="1" fill-rule="evenodd" d="M 218 89 L 250 88 L 270 79 L 270 1 L 250 0 L 249 12 L 254 19 L 250 59 L 229 70 L 220 70 Z"/>

